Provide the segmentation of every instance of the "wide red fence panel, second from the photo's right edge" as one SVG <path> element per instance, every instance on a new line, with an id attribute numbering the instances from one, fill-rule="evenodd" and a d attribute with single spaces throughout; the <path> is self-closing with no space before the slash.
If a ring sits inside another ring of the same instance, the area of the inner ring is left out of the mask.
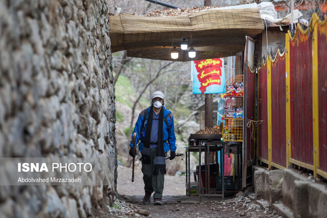
<path id="1" fill-rule="evenodd" d="M 290 41 L 291 157 L 313 165 L 312 42 L 297 31 Z"/>

